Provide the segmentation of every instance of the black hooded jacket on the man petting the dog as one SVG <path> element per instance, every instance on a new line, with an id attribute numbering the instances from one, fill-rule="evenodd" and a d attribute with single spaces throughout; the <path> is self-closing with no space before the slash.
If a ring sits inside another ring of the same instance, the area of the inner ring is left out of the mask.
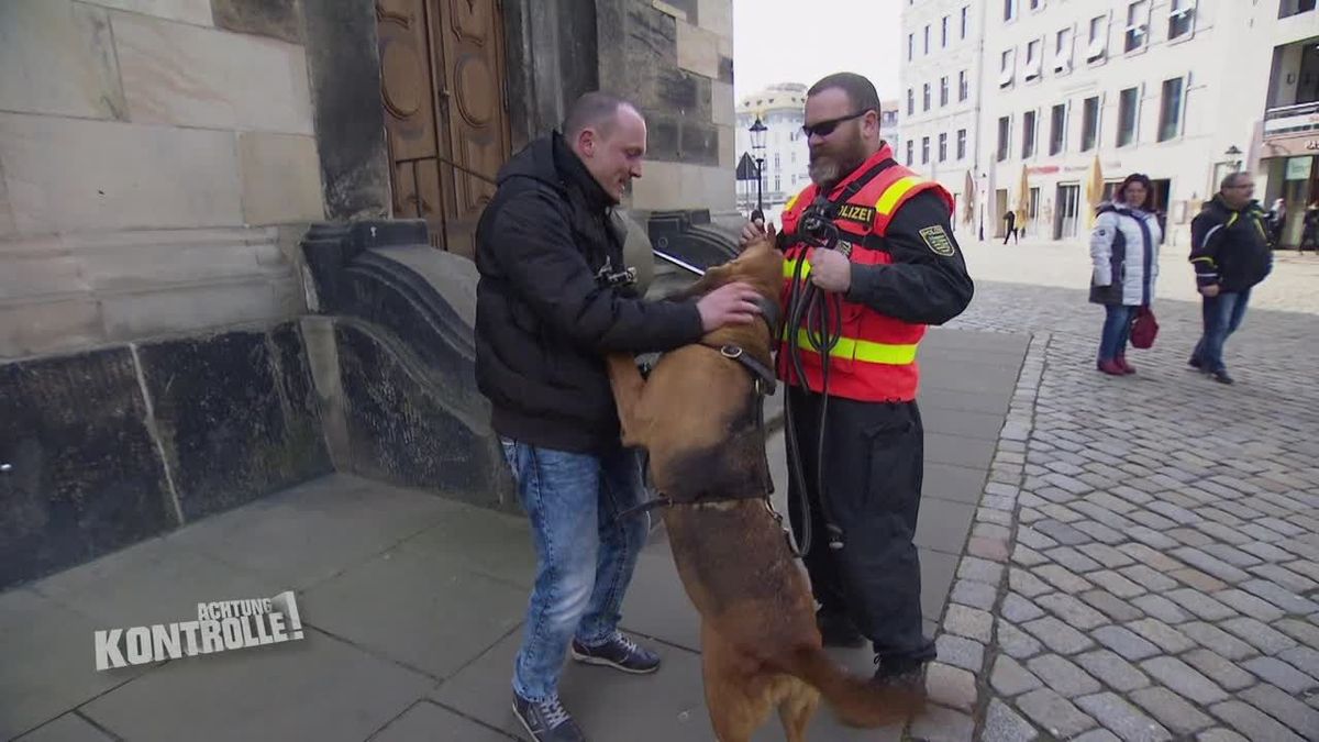
<path id="1" fill-rule="evenodd" d="M 518 152 L 476 228 L 476 384 L 509 438 L 575 453 L 619 442 L 608 351 L 698 341 L 691 302 L 645 302 L 596 279 L 623 269 L 613 202 L 558 133 Z"/>

